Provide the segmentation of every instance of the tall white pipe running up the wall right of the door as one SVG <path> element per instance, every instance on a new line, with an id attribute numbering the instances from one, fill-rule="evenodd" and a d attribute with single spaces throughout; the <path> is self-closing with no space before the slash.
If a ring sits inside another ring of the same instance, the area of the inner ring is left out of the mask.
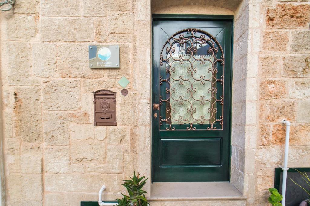
<path id="1" fill-rule="evenodd" d="M 283 199 L 281 204 L 285 206 L 285 193 L 286 193 L 286 177 L 287 177 L 287 158 L 289 156 L 289 142 L 290 142 L 290 122 L 287 120 L 282 121 L 286 125 L 286 135 L 285 135 L 285 150 L 284 150 L 284 167 L 283 169 L 283 180 L 282 180 L 282 196 Z"/>

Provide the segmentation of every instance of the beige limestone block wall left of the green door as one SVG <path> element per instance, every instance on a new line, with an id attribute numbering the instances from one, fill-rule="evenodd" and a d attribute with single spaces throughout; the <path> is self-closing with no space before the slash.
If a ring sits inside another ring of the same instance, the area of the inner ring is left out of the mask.
<path id="1" fill-rule="evenodd" d="M 1 12 L 6 205 L 79 205 L 103 184 L 116 199 L 134 169 L 149 176 L 150 23 L 146 1 L 18 0 Z M 88 68 L 96 44 L 120 45 L 119 69 Z M 117 92 L 117 126 L 93 125 L 99 89 Z"/>

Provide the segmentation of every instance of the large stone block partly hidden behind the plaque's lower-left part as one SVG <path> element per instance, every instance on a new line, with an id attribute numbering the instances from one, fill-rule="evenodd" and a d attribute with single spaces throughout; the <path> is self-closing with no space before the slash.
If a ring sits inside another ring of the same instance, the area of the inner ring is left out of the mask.
<path id="1" fill-rule="evenodd" d="M 63 58 L 63 57 L 66 58 Z M 57 66 L 60 77 L 101 78 L 104 69 L 89 68 L 88 46 L 84 44 L 62 44 L 58 47 Z"/>

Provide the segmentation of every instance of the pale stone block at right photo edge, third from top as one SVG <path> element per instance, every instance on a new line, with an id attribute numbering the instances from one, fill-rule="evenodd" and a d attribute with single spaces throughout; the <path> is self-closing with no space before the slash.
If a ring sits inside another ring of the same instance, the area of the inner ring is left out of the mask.
<path id="1" fill-rule="evenodd" d="M 282 58 L 283 77 L 310 77 L 310 55 L 289 55 Z"/>

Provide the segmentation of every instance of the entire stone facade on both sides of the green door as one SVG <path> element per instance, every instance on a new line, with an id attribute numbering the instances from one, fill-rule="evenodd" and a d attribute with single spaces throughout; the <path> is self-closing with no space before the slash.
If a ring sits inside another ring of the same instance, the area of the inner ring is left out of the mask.
<path id="1" fill-rule="evenodd" d="M 230 2 L 157 0 L 152 12 L 235 15 L 231 182 L 247 199 L 153 206 L 268 205 L 283 118 L 289 166 L 309 166 L 309 2 Z M 151 2 L 16 0 L 0 17 L 6 205 L 79 205 L 103 184 L 115 199 L 134 169 L 149 176 Z M 119 44 L 121 67 L 88 68 L 92 44 Z M 117 126 L 93 126 L 99 89 L 117 92 Z"/>

